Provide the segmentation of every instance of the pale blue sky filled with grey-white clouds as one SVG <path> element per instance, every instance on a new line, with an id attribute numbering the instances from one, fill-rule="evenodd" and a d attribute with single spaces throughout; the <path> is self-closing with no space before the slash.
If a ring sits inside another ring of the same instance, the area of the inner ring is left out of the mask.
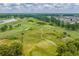
<path id="1" fill-rule="evenodd" d="M 0 3 L 0 13 L 79 13 L 79 3 Z"/>

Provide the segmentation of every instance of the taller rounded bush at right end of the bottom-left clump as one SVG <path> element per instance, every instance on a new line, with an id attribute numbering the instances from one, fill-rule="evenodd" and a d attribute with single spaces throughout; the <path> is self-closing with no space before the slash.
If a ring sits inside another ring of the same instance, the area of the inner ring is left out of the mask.
<path id="1" fill-rule="evenodd" d="M 11 56 L 22 55 L 22 44 L 20 42 L 11 43 L 9 55 Z"/>

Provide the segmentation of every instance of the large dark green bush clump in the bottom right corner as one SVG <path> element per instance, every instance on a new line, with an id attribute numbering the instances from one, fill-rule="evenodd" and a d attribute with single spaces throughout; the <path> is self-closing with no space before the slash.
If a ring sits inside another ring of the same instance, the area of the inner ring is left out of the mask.
<path id="1" fill-rule="evenodd" d="M 78 41 L 70 41 L 67 42 L 65 45 L 58 46 L 57 52 L 59 56 L 65 55 L 65 56 L 76 56 L 78 55 L 79 51 L 79 42 Z"/>

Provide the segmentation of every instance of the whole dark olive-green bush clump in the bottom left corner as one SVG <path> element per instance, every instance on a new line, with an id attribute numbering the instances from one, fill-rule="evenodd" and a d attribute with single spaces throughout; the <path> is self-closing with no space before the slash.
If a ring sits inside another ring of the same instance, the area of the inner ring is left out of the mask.
<path id="1" fill-rule="evenodd" d="M 12 42 L 10 46 L 0 45 L 0 56 L 20 56 L 22 55 L 22 44 L 20 42 Z"/>

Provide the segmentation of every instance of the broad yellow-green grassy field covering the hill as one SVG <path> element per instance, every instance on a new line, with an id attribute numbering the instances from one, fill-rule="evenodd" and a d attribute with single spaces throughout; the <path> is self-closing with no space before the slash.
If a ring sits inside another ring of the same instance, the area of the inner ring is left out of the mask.
<path id="1" fill-rule="evenodd" d="M 6 45 L 15 40 L 22 42 L 22 52 L 26 56 L 56 56 L 59 45 L 79 39 L 79 30 L 71 31 L 56 25 L 51 26 L 49 22 L 32 17 L 17 18 L 16 20 L 15 22 L 0 24 L 0 26 L 13 26 L 11 30 L 0 32 L 0 42 Z M 64 36 L 63 32 L 66 32 L 67 35 Z"/>

